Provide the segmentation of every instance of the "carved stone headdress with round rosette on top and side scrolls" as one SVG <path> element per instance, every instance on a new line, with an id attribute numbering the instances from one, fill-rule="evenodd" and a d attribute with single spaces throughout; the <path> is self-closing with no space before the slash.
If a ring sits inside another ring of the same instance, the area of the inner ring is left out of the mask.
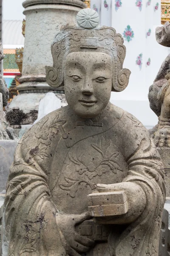
<path id="1" fill-rule="evenodd" d="M 99 15 L 92 9 L 77 14 L 79 26 L 63 26 L 51 45 L 53 67 L 46 66 L 46 81 L 52 87 L 63 86 L 65 58 L 71 52 L 104 52 L 113 60 L 112 91 L 127 87 L 130 70 L 123 69 L 126 47 L 122 35 L 111 27 L 98 27 Z"/>

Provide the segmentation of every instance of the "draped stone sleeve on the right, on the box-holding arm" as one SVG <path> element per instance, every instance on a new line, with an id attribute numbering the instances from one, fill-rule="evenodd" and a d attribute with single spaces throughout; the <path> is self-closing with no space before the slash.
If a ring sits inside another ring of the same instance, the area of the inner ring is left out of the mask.
<path id="1" fill-rule="evenodd" d="M 129 224 L 117 244 L 118 256 L 158 255 L 159 231 L 165 201 L 165 175 L 161 158 L 146 128 L 134 116 L 127 114 L 124 128 L 124 152 L 127 161 L 127 176 L 123 180 L 138 185 L 144 192 L 146 202 L 139 217 Z M 142 198 L 136 195 L 138 201 Z M 113 243 L 112 243 L 113 244 Z M 125 253 L 125 254 L 124 254 Z"/>

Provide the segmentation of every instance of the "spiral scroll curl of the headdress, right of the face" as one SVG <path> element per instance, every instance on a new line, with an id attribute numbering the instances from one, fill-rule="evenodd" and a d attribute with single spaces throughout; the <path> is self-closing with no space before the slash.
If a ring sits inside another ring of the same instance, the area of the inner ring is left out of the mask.
<path id="1" fill-rule="evenodd" d="M 112 83 L 112 91 L 113 92 L 122 92 L 125 90 L 129 83 L 129 77 L 130 77 L 130 70 L 127 68 L 123 68 L 117 76 L 117 82 L 115 83 L 114 78 L 113 78 L 113 83 Z"/>

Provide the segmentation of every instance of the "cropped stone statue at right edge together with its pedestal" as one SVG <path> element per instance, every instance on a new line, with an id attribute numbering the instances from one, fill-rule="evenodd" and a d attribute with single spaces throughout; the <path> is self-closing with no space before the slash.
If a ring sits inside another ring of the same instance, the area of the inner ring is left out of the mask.
<path id="1" fill-rule="evenodd" d="M 170 47 L 170 23 L 156 28 L 156 40 L 165 47 Z M 158 124 L 150 130 L 155 145 L 161 155 L 166 174 L 167 197 L 170 197 L 170 54 L 164 60 L 149 88 L 150 108 L 159 118 Z"/>

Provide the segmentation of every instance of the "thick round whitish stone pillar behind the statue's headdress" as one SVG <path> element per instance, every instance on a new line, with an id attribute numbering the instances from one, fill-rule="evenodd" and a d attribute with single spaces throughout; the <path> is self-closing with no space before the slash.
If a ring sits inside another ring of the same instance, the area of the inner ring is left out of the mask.
<path id="1" fill-rule="evenodd" d="M 23 70 L 19 95 L 9 105 L 7 120 L 14 128 L 32 124 L 37 119 L 38 106 L 45 93 L 56 93 L 62 103 L 63 88 L 52 88 L 45 81 L 45 65 L 51 66 L 51 43 L 62 25 L 76 23 L 80 9 L 86 8 L 82 0 L 26 0 Z"/>

